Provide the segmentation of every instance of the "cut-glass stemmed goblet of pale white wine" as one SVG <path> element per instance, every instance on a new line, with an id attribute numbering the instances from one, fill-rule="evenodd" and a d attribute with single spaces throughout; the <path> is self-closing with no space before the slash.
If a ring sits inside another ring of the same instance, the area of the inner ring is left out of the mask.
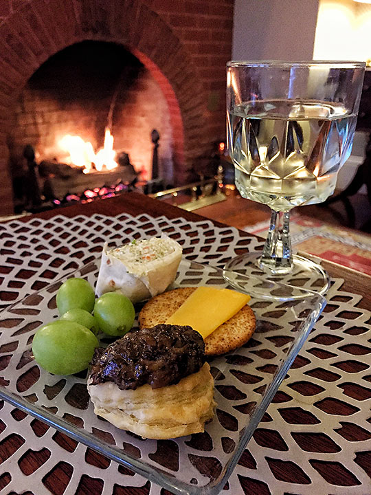
<path id="1" fill-rule="evenodd" d="M 326 271 L 293 255 L 295 206 L 320 203 L 335 190 L 355 134 L 365 63 L 227 63 L 227 145 L 240 195 L 267 204 L 271 224 L 260 253 L 237 256 L 233 272 L 264 275 L 324 294 Z"/>

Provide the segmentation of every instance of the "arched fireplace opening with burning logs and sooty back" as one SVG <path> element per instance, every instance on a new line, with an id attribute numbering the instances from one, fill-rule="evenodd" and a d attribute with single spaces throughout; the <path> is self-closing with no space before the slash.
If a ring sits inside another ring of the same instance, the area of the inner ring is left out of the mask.
<path id="1" fill-rule="evenodd" d="M 39 208 L 38 194 L 55 206 L 67 197 L 113 195 L 137 181 L 160 178 L 170 187 L 170 113 L 150 69 L 123 45 L 83 41 L 56 53 L 14 104 L 14 210 Z"/>

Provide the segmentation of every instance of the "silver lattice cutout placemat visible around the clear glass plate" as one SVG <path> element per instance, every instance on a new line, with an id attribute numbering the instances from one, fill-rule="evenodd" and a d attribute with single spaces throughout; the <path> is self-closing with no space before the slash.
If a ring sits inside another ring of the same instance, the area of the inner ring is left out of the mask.
<path id="1" fill-rule="evenodd" d="M 256 239 L 234 228 L 214 228 L 210 221 L 188 223 L 128 214 L 11 221 L 0 225 L 0 303 L 4 307 L 89 263 L 99 255 L 104 241 L 120 244 L 162 232 L 182 243 L 188 259 L 201 263 L 220 265 L 241 248 L 260 246 Z M 341 280 L 333 281 L 324 314 L 223 493 L 370 495 L 371 314 L 357 308 L 360 299 L 342 292 Z M 272 371 L 267 368 L 267 373 Z M 351 383 L 357 386 L 350 387 Z M 336 414 L 330 414 L 329 407 Z M 0 414 L 4 494 L 23 493 L 26 487 L 35 495 L 85 493 L 87 478 L 96 487 L 94 495 L 134 494 L 135 487 L 144 487 L 141 493 L 148 495 L 168 493 L 113 461 L 101 459 L 98 467 L 96 456 L 85 445 L 63 441 L 53 428 L 44 428 L 41 434 L 35 419 L 10 404 L 3 404 Z M 361 441 L 354 441 L 355 433 Z M 13 451 L 8 445 L 14 438 L 19 447 Z M 26 467 L 35 452 L 40 453 L 39 465 L 30 474 Z M 48 481 L 56 470 L 63 474 L 63 487 Z M 344 473 L 351 482 L 344 484 Z"/>

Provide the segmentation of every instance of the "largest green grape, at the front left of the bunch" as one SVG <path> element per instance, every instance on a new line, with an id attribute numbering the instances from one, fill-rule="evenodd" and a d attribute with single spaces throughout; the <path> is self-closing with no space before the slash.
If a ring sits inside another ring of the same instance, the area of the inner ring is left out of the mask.
<path id="1" fill-rule="evenodd" d="M 98 339 L 86 327 L 57 320 L 34 335 L 32 353 L 40 366 L 55 375 L 72 375 L 87 369 Z"/>

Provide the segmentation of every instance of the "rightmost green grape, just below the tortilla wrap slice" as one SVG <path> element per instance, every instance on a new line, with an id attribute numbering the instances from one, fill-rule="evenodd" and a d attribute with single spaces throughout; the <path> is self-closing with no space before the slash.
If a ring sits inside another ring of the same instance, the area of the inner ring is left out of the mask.
<path id="1" fill-rule="evenodd" d="M 95 301 L 94 316 L 100 330 L 121 337 L 133 327 L 135 309 L 123 294 L 106 292 Z"/>

